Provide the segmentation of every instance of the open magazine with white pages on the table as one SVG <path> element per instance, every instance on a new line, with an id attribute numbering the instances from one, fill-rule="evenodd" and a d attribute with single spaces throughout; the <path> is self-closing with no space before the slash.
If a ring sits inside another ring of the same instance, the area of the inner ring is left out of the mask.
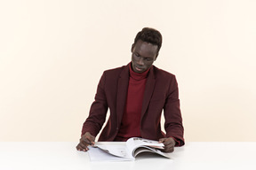
<path id="1" fill-rule="evenodd" d="M 169 153 L 163 152 L 164 144 L 158 141 L 132 137 L 125 144 L 98 144 L 90 147 L 89 156 L 95 160 L 134 160 L 142 152 L 151 152 L 170 158 Z"/>

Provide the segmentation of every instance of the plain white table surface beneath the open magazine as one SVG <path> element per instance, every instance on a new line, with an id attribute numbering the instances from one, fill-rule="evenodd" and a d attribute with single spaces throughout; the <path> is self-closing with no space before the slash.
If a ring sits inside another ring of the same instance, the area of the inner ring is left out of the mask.
<path id="1" fill-rule="evenodd" d="M 146 156 L 135 161 L 91 162 L 72 142 L 0 142 L 0 169 L 256 169 L 256 143 L 191 142 L 176 147 L 172 159 Z"/>

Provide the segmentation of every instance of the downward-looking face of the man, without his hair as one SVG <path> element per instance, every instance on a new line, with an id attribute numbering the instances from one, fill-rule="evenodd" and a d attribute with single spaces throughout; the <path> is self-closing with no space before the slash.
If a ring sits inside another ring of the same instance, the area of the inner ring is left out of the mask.
<path id="1" fill-rule="evenodd" d="M 157 45 L 141 40 L 132 44 L 132 70 L 135 73 L 147 71 L 157 58 L 157 48 Z"/>

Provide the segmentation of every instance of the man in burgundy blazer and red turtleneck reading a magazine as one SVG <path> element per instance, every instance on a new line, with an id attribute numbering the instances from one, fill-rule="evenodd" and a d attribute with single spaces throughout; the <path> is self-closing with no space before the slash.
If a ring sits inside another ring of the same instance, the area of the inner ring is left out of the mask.
<path id="1" fill-rule="evenodd" d="M 184 145 L 178 84 L 172 73 L 153 66 L 162 46 L 162 35 L 143 28 L 132 44 L 132 62 L 105 71 L 95 101 L 85 120 L 78 151 L 88 151 L 110 111 L 99 141 L 126 141 L 142 137 L 164 143 L 164 151 Z M 161 114 L 164 110 L 164 128 Z"/>

